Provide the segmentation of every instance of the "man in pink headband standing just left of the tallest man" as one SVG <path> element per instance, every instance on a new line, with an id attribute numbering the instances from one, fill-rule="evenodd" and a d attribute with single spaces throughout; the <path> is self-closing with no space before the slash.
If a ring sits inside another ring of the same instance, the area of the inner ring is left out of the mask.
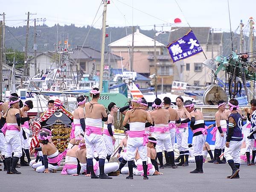
<path id="1" fill-rule="evenodd" d="M 74 111 L 73 115 L 73 123 L 75 130 L 72 128 L 72 132 L 74 135 L 72 137 L 78 137 L 80 134 L 84 134 L 85 131 L 85 121 L 84 121 L 84 103 L 86 102 L 86 99 L 83 95 L 79 95 L 76 98 L 77 100 L 77 108 Z"/>

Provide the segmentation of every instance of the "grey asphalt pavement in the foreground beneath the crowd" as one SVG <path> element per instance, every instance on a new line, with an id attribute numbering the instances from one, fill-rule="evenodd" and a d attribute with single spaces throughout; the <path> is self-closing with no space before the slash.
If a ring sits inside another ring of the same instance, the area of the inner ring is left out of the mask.
<path id="1" fill-rule="evenodd" d="M 3 168 L 3 166 L 1 166 Z M 150 176 L 149 180 L 134 176 L 126 180 L 126 175 L 113 177 L 112 180 L 90 179 L 84 175 L 72 177 L 61 172 L 38 174 L 30 167 L 18 169 L 21 175 L 6 175 L 0 172 L 1 192 L 255 192 L 256 166 L 241 166 L 240 179 L 226 179 L 231 169 L 228 164 L 214 165 L 204 163 L 204 174 L 189 174 L 195 163 L 189 167 L 161 169 L 164 175 Z"/>

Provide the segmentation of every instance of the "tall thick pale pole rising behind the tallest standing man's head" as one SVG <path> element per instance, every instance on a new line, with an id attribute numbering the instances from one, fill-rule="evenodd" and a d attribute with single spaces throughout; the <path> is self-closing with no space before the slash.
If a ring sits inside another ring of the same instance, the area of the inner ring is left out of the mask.
<path id="1" fill-rule="evenodd" d="M 103 83 L 103 69 L 104 69 L 104 53 L 105 53 L 105 38 L 106 38 L 106 17 L 107 17 L 107 4 L 108 1 L 104 0 L 103 18 L 102 18 L 102 48 L 101 48 L 101 60 L 100 60 L 100 78 L 99 78 L 99 90 L 102 91 Z"/>

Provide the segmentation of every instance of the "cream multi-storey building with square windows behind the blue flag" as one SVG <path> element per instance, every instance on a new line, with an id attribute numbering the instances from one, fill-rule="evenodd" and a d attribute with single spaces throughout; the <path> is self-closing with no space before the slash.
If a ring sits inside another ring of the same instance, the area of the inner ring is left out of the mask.
<path id="1" fill-rule="evenodd" d="M 189 27 L 172 27 L 172 29 L 176 30 L 170 32 L 169 42 L 182 38 L 190 30 Z M 211 70 L 204 66 L 203 61 L 206 60 L 206 57 L 215 58 L 217 55 L 222 55 L 223 33 L 212 34 L 210 27 L 192 27 L 192 31 L 204 53 L 200 52 L 197 55 L 172 63 L 174 73 L 177 74 L 174 76 L 174 80 L 187 82 L 191 86 L 212 84 Z M 224 77 L 224 72 L 218 75 L 220 78 Z"/>

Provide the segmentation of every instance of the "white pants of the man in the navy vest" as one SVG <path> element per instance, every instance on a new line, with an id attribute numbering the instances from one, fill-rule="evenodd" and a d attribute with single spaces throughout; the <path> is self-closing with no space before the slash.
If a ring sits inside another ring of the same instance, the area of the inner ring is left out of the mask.
<path id="1" fill-rule="evenodd" d="M 242 141 L 230 141 L 229 148 L 225 147 L 224 157 L 226 160 L 234 160 L 234 163 L 241 163 L 240 159 L 240 147 Z"/>

